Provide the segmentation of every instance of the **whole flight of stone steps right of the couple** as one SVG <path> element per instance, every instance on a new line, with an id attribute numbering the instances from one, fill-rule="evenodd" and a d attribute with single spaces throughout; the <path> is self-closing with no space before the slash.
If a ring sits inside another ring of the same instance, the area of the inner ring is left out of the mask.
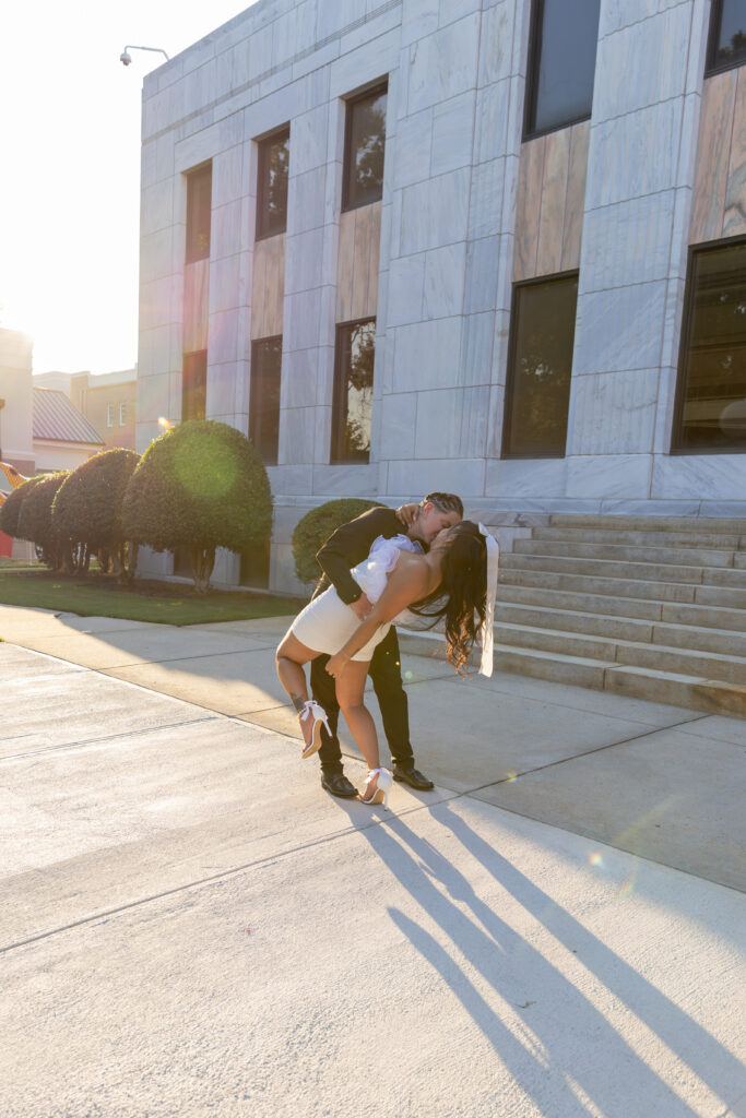
<path id="1" fill-rule="evenodd" d="M 746 718 L 746 521 L 549 517 L 500 556 L 494 641 L 501 671 Z"/>

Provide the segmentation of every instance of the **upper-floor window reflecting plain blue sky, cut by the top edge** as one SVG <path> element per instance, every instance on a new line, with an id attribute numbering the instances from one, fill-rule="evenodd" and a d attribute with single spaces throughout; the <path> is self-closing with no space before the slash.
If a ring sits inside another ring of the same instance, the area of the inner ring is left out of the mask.
<path id="1" fill-rule="evenodd" d="M 523 139 L 591 116 L 601 0 L 533 0 Z"/>

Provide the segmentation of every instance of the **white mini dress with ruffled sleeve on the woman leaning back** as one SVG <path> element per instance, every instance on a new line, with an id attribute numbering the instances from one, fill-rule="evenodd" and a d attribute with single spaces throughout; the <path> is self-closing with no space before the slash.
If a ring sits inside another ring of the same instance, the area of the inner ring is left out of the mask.
<path id="1" fill-rule="evenodd" d="M 374 540 L 368 558 L 352 568 L 352 578 L 369 601 L 378 601 L 386 587 L 388 576 L 396 567 L 397 559 L 403 551 L 423 555 L 419 543 L 410 540 L 408 536 L 394 536 L 388 540 L 379 536 L 378 539 Z M 371 660 L 376 645 L 380 644 L 391 625 L 404 623 L 410 616 L 409 610 L 404 610 L 386 625 L 380 625 L 368 643 L 351 659 Z M 290 626 L 289 632 L 308 648 L 333 656 L 347 644 L 360 624 L 360 619 L 350 606 L 346 606 L 334 587 L 330 586 L 313 601 L 309 601 L 305 609 L 301 610 Z"/>

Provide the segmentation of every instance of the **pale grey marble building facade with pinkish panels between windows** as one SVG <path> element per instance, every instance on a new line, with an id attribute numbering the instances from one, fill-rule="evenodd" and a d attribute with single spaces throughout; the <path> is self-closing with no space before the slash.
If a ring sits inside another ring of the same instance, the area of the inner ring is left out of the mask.
<path id="1" fill-rule="evenodd" d="M 746 67 L 706 77 L 710 0 L 601 0 L 589 117 L 528 138 L 537 18 L 531 0 L 259 0 L 145 78 L 136 446 L 183 417 L 185 354 L 204 354 L 207 417 L 248 434 L 257 345 L 282 339 L 273 588 L 296 586 L 300 517 L 338 496 L 746 517 L 746 454 L 671 453 L 690 248 L 746 237 Z M 380 197 L 346 209 L 349 103 L 381 82 Z M 262 144 L 287 127 L 286 222 L 257 237 Z M 567 275 L 564 453 L 510 455 L 516 285 Z M 338 461 L 340 326 L 362 320 L 368 461 Z"/>

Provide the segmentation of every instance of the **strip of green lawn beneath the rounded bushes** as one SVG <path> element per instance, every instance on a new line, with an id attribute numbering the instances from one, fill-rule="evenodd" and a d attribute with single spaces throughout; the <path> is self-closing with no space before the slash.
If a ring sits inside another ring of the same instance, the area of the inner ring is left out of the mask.
<path id="1" fill-rule="evenodd" d="M 166 625 L 205 625 L 253 617 L 293 616 L 305 598 L 210 590 L 200 597 L 190 587 L 138 580 L 132 588 L 106 576 L 78 578 L 49 570 L 0 571 L 0 604 L 56 609 L 83 617 L 124 617 Z"/>

